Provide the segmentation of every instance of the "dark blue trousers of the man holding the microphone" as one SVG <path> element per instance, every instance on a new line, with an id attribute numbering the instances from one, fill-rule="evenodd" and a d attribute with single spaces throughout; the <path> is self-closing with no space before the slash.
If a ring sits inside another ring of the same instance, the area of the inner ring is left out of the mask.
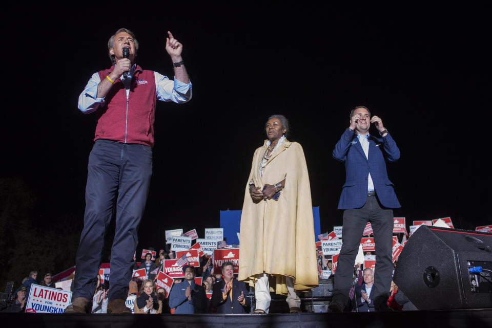
<path id="1" fill-rule="evenodd" d="M 96 140 L 89 156 L 84 229 L 78 245 L 73 297 L 92 299 L 104 235 L 116 204 L 109 300 L 126 299 L 137 230 L 152 176 L 152 149 L 141 144 Z"/>

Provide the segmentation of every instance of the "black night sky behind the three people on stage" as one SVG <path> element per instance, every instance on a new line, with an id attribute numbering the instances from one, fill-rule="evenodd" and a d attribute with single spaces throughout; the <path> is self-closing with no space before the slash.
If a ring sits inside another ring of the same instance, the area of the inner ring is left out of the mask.
<path id="1" fill-rule="evenodd" d="M 161 248 L 166 229 L 196 228 L 202 237 L 219 226 L 219 210 L 242 208 L 272 114 L 291 121 L 289 139 L 304 149 L 321 231 L 332 231 L 342 223 L 345 181 L 332 151 L 355 105 L 381 117 L 400 148 L 399 161 L 388 165 L 402 205 L 395 216 L 407 226 L 445 216 L 462 229 L 492 224 L 484 8 L 137 5 L 121 4 L 128 15 L 120 4 L 5 9 L 0 177 L 25 182 L 39 223 L 83 220 L 96 118 L 82 114 L 77 99 L 94 72 L 111 66 L 108 38 L 126 27 L 140 43 L 136 62 L 173 78 L 170 30 L 193 83 L 190 102 L 157 105 L 138 249 Z"/>

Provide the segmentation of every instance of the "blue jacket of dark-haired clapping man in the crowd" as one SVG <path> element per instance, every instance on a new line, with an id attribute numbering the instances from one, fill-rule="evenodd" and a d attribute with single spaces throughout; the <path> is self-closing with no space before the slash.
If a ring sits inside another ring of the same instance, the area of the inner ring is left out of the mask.
<path id="1" fill-rule="evenodd" d="M 191 300 L 186 297 L 186 289 L 190 286 L 187 280 L 183 280 L 173 286 L 169 295 L 169 307 L 176 308 L 175 314 L 194 314 L 206 313 L 207 295 L 202 286 L 196 285 L 195 281 L 191 283 Z"/>

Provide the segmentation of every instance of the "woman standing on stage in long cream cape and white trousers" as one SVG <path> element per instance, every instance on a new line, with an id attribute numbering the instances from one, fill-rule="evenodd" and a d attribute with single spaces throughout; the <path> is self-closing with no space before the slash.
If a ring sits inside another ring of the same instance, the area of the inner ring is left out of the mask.
<path id="1" fill-rule="evenodd" d="M 318 286 L 308 168 L 301 145 L 285 139 L 289 121 L 283 115 L 271 116 L 265 133 L 245 186 L 240 238 L 246 242 L 240 243 L 238 280 L 255 287 L 254 313 L 268 313 L 270 287 L 288 295 L 295 313 L 296 291 Z"/>

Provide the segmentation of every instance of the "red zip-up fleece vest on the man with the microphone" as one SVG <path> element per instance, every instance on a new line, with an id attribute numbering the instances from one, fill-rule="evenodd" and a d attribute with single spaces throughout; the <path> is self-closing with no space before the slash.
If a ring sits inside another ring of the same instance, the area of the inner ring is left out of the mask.
<path id="1" fill-rule="evenodd" d="M 101 81 L 114 69 L 99 71 Z M 120 79 L 106 95 L 105 105 L 97 110 L 94 141 L 109 139 L 124 143 L 154 146 L 154 120 L 156 89 L 154 72 L 142 70 L 138 65 L 128 96 Z"/>

